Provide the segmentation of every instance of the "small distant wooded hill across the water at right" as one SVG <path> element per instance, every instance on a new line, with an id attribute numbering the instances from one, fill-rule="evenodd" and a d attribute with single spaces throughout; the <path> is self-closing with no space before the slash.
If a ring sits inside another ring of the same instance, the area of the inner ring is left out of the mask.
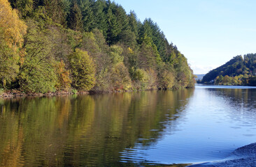
<path id="1" fill-rule="evenodd" d="M 208 72 L 201 83 L 256 86 L 256 54 L 235 56 L 232 60 Z"/>

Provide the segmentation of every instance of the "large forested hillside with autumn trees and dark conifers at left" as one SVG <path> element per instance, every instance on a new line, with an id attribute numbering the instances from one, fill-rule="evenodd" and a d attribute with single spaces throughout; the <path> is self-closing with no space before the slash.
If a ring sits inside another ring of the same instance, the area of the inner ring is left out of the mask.
<path id="1" fill-rule="evenodd" d="M 159 26 L 110 0 L 0 0 L 0 61 L 0 92 L 194 86 Z"/>

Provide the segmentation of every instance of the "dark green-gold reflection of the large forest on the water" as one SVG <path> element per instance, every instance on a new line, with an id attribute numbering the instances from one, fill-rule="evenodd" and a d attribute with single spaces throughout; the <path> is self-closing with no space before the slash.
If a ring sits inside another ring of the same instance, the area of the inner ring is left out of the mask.
<path id="1" fill-rule="evenodd" d="M 148 166 L 123 151 L 175 132 L 193 91 L 0 100 L 0 166 Z"/>

